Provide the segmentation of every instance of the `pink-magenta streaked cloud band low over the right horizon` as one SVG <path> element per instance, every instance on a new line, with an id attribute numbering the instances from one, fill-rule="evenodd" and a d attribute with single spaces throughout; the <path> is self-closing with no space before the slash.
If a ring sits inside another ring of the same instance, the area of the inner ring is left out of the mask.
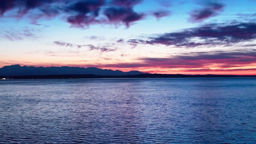
<path id="1" fill-rule="evenodd" d="M 216 65 L 226 68 L 227 65 L 244 66 L 256 63 L 255 51 L 217 51 L 185 53 L 168 58 L 141 58 L 144 63 L 171 68 L 202 68 Z"/>

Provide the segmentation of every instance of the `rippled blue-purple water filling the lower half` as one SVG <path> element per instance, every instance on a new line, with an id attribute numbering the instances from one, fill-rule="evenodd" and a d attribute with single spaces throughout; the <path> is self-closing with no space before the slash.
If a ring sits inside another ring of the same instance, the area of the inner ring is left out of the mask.
<path id="1" fill-rule="evenodd" d="M 256 78 L 1 80 L 0 143 L 256 143 Z"/>

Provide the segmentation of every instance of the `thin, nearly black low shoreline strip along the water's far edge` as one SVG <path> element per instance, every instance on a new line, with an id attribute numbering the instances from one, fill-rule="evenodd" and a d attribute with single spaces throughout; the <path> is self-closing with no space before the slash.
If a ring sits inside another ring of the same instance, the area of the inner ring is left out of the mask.
<path id="1" fill-rule="evenodd" d="M 89 78 L 232 78 L 256 77 L 256 75 L 184 75 L 184 74 L 140 74 L 140 75 L 30 75 L 30 76 L 0 76 L 0 79 L 89 79 Z"/>

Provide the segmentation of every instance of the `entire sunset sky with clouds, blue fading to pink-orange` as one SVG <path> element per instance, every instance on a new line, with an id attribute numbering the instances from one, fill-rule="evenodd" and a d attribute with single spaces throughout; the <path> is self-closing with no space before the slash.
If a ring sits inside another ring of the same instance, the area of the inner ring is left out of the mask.
<path id="1" fill-rule="evenodd" d="M 0 67 L 256 74 L 256 0 L 0 0 Z"/>

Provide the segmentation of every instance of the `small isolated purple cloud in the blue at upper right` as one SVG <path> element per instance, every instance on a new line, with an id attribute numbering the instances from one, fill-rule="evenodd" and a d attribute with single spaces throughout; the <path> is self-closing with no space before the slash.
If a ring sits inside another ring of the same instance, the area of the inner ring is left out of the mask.
<path id="1" fill-rule="evenodd" d="M 210 17 L 216 16 L 224 8 L 224 4 L 216 1 L 205 1 L 201 3 L 204 8 L 194 10 L 190 13 L 191 22 L 201 22 Z"/>

